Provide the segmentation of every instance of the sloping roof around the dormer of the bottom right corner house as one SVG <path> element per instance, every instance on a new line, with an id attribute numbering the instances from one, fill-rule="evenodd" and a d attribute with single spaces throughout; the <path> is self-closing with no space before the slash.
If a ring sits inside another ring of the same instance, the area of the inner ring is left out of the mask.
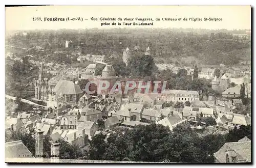
<path id="1" fill-rule="evenodd" d="M 226 162 L 227 150 L 233 151 L 232 155 L 237 156 L 237 161 L 245 160 L 251 162 L 251 142 L 233 142 L 225 143 L 214 156 L 221 162 Z"/>

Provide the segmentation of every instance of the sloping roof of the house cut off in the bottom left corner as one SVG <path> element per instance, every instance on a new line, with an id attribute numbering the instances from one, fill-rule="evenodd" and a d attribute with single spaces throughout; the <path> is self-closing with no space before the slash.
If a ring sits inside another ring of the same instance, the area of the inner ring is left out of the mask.
<path id="1" fill-rule="evenodd" d="M 5 157 L 35 158 L 21 140 L 5 143 Z"/>

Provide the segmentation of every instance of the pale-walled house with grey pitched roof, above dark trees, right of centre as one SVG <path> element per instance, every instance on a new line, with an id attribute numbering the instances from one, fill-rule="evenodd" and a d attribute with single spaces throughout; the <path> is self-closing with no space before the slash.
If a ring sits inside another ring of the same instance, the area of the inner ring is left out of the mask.
<path id="1" fill-rule="evenodd" d="M 148 121 L 159 121 L 161 120 L 161 117 L 161 110 L 154 108 L 144 108 L 141 114 L 141 118 L 146 119 Z"/>

